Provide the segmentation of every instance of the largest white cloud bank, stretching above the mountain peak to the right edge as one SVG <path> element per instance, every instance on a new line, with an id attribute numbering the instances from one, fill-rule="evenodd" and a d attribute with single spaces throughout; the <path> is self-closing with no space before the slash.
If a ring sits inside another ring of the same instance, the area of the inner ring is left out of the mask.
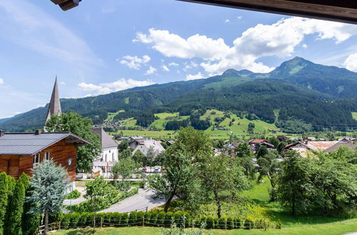
<path id="1" fill-rule="evenodd" d="M 308 34 L 316 34 L 316 40 L 331 39 L 341 43 L 357 34 L 357 26 L 351 24 L 290 17 L 271 25 L 248 28 L 228 46 L 223 38 L 213 39 L 199 34 L 182 38 L 166 30 L 149 29 L 148 34 L 137 33 L 134 41 L 151 44 L 151 48 L 166 57 L 183 59 L 201 58 L 200 66 L 209 75 L 216 75 L 228 68 L 249 69 L 267 73 L 273 68 L 257 62 L 264 56 L 291 56 L 296 46 Z M 186 65 L 184 70 L 188 70 Z"/>

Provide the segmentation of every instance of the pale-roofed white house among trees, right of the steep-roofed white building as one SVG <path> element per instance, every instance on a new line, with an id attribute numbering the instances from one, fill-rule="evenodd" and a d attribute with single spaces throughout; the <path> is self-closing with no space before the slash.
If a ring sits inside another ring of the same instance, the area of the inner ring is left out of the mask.
<path id="1" fill-rule="evenodd" d="M 133 154 L 136 151 L 141 151 L 145 156 L 148 155 L 149 149 L 152 148 L 156 155 L 164 152 L 165 149 L 162 147 L 161 143 L 153 139 L 144 139 L 139 137 L 130 137 L 129 138 L 129 147 L 133 150 Z"/>

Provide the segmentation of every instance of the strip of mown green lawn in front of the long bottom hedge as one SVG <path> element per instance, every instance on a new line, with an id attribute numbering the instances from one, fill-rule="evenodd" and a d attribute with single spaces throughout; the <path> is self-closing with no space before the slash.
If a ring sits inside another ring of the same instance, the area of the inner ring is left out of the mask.
<path id="1" fill-rule="evenodd" d="M 60 230 L 53 234 L 56 235 L 82 235 L 82 234 L 101 234 L 101 235 L 114 235 L 114 234 L 160 234 L 161 228 L 152 227 L 125 227 L 125 228 L 103 228 L 96 229 L 94 232 L 91 228 L 86 229 L 71 229 Z M 349 219 L 346 221 L 338 221 L 328 224 L 307 224 L 303 226 L 296 226 L 292 228 L 273 229 L 268 228 L 266 231 L 261 229 L 252 230 L 221 230 L 213 229 L 213 234 L 346 234 L 349 232 L 357 231 L 357 219 Z"/>

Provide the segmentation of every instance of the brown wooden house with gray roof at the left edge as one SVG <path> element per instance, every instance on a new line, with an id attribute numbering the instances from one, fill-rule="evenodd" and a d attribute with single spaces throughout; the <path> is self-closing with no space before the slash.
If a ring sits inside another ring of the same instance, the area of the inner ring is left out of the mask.
<path id="1" fill-rule="evenodd" d="M 71 132 L 6 133 L 0 131 L 0 172 L 15 179 L 44 160 L 53 160 L 67 169 L 69 182 L 76 179 L 77 147 L 91 143 Z"/>

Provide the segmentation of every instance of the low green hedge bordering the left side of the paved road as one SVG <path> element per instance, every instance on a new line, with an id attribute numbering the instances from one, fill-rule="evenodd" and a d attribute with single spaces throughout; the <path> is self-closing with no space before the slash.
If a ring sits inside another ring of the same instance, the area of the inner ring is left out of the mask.
<path id="1" fill-rule="evenodd" d="M 136 187 L 134 189 L 131 189 L 128 192 L 122 192 L 121 194 L 119 194 L 118 196 L 116 196 L 112 199 L 106 199 L 105 203 L 102 204 L 103 207 L 99 208 L 99 211 L 101 211 L 103 209 L 107 209 L 112 204 L 116 204 L 117 202 L 120 202 L 120 201 L 126 199 L 127 197 L 134 196 L 138 192 L 139 192 L 139 188 Z M 66 206 L 66 209 L 70 209 L 70 206 Z M 71 210 L 74 212 L 78 212 L 78 213 L 91 212 L 91 211 L 93 211 L 92 206 L 91 206 L 91 200 L 87 200 L 87 201 L 81 202 L 79 204 L 72 205 Z"/>

